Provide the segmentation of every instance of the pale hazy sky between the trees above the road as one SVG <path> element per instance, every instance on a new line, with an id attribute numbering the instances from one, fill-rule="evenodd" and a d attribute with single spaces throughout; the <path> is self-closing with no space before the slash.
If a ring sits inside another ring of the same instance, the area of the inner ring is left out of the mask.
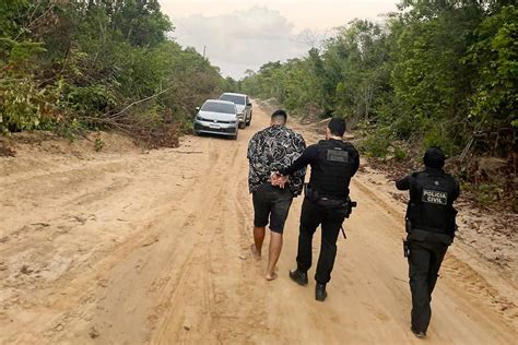
<path id="1" fill-rule="evenodd" d="M 184 46 L 236 79 L 268 61 L 301 57 L 353 19 L 379 19 L 399 0 L 160 0 Z"/>

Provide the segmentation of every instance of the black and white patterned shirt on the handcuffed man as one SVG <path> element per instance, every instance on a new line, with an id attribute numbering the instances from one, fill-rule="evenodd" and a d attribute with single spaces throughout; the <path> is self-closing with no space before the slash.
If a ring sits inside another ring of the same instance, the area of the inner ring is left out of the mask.
<path id="1" fill-rule="evenodd" d="M 291 166 L 303 154 L 304 148 L 306 143 L 302 135 L 284 126 L 275 124 L 257 132 L 248 143 L 250 193 L 261 185 L 269 183 L 272 172 Z M 293 195 L 302 193 L 305 175 L 304 168 L 290 176 L 289 187 Z"/>

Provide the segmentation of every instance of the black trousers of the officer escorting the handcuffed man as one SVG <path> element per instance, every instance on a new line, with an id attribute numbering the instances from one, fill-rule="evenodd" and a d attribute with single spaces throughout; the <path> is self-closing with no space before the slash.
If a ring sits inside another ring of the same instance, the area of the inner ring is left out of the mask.
<path id="1" fill-rule="evenodd" d="M 335 209 L 320 206 L 307 198 L 304 199 L 298 234 L 297 267 L 302 272 L 307 272 L 311 267 L 313 235 L 321 225 L 322 240 L 315 274 L 315 279 L 320 284 L 327 284 L 331 279 L 331 271 L 337 257 L 337 239 L 344 218 Z"/>

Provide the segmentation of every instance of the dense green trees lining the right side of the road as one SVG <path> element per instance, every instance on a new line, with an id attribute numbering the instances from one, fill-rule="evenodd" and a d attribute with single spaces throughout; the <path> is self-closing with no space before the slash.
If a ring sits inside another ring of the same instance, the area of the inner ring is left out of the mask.
<path id="1" fill-rule="evenodd" d="M 395 140 L 455 154 L 481 131 L 514 138 L 517 57 L 514 1 L 403 1 L 385 23 L 353 21 L 321 50 L 249 71 L 240 87 L 302 115 L 361 121 L 374 155 Z"/>

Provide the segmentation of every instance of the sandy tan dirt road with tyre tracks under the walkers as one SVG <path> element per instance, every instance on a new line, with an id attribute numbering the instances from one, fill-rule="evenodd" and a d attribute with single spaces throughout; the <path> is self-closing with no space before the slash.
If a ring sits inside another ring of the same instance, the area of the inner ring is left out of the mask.
<path id="1" fill-rule="evenodd" d="M 301 198 L 280 278 L 262 278 L 266 262 L 248 252 L 246 147 L 268 120 L 256 108 L 237 141 L 187 138 L 148 154 L 25 150 L 0 160 L 0 343 L 419 344 L 403 207 L 372 175 L 352 185 L 358 207 L 325 304 L 313 282 L 287 278 Z M 461 246 L 443 274 L 426 343 L 516 344 L 516 286 Z"/>

